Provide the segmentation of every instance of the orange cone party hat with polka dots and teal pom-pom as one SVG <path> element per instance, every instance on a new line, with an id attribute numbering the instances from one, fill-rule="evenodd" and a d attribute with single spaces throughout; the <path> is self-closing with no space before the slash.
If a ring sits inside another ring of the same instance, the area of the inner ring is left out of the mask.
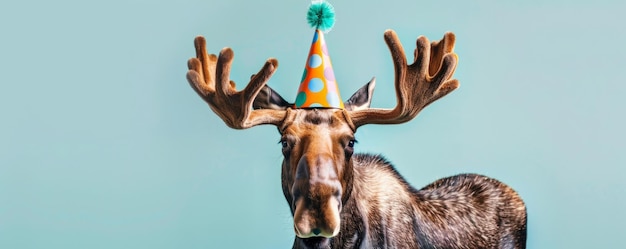
<path id="1" fill-rule="evenodd" d="M 335 22 L 333 6 L 325 1 L 313 2 L 307 13 L 307 20 L 315 28 L 315 33 L 302 73 L 295 107 L 343 109 L 343 101 L 339 95 L 339 87 L 335 81 L 323 33 L 329 31 Z"/>

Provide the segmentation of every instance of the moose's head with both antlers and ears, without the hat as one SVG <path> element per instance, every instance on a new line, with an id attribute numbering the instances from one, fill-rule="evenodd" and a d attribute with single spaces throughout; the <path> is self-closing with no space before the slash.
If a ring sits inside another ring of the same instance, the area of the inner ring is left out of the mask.
<path id="1" fill-rule="evenodd" d="M 229 78 L 233 51 L 224 48 L 219 56 L 208 54 L 205 39 L 195 39 L 196 58 L 188 62 L 187 79 L 213 112 L 234 129 L 262 124 L 278 128 L 284 155 L 282 189 L 298 238 L 332 238 L 340 232 L 342 208 L 353 196 L 358 174 L 352 156 L 354 134 L 360 126 L 410 121 L 459 86 L 451 79 L 457 65 L 453 33 L 432 43 L 419 37 L 411 64 L 394 31 L 386 31 L 384 38 L 395 67 L 397 105 L 393 109 L 370 108 L 374 79 L 344 102 L 345 109 L 294 109 L 266 85 L 278 67 L 273 58 L 237 91 Z"/>

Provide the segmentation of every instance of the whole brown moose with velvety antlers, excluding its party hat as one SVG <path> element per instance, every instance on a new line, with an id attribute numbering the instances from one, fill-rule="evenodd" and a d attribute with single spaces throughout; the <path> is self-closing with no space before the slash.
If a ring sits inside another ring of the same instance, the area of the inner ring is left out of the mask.
<path id="1" fill-rule="evenodd" d="M 362 125 L 408 122 L 459 86 L 452 79 L 458 60 L 453 33 L 432 43 L 420 36 L 412 64 L 393 30 L 384 39 L 394 64 L 393 109 L 370 108 L 375 79 L 344 109 L 295 109 L 266 85 L 278 66 L 274 58 L 237 91 L 229 78 L 233 51 L 208 54 L 202 36 L 195 38 L 187 80 L 227 126 L 278 128 L 293 248 L 525 248 L 526 207 L 504 183 L 460 174 L 418 190 L 383 156 L 354 153 Z"/>

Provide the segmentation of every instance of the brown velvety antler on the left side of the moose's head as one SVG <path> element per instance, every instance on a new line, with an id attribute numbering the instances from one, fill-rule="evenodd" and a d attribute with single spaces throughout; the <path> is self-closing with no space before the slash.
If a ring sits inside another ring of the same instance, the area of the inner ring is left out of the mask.
<path id="1" fill-rule="evenodd" d="M 272 76 L 278 61 L 270 58 L 263 68 L 253 75 L 250 83 L 240 92 L 229 79 L 234 53 L 230 48 L 220 51 L 219 57 L 207 54 L 206 40 L 202 36 L 194 40 L 196 58 L 188 61 L 187 81 L 206 101 L 213 112 L 234 129 L 246 129 L 260 124 L 278 125 L 285 117 L 283 110 L 252 110 L 256 95 Z"/>

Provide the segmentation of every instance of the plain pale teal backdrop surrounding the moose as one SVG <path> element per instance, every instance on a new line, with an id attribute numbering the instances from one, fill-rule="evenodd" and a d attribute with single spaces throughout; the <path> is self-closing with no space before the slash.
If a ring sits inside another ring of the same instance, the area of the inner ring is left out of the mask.
<path id="1" fill-rule="evenodd" d="M 193 38 L 230 46 L 239 88 L 269 57 L 293 101 L 308 1 L 0 3 L 0 248 L 288 248 L 274 127 L 232 130 L 185 80 Z M 514 187 L 529 248 L 626 248 L 624 1 L 334 0 L 326 35 L 343 98 L 383 41 L 457 35 L 461 87 L 412 122 L 365 126 L 416 187 L 476 172 Z M 408 56 L 412 60 L 412 55 Z"/>

